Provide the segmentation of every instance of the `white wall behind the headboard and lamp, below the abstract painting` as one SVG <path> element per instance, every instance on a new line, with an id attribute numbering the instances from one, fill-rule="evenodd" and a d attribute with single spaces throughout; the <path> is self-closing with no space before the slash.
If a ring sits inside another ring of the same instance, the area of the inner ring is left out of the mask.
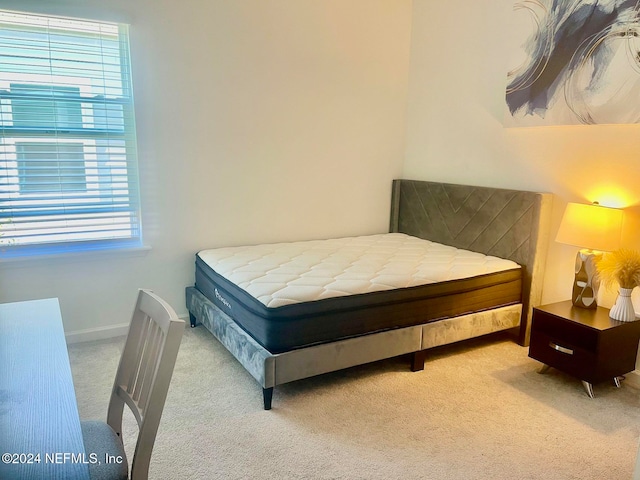
<path id="1" fill-rule="evenodd" d="M 621 197 L 625 244 L 640 247 L 640 126 L 504 128 L 512 5 L 414 0 L 403 176 L 554 193 L 543 302 L 565 300 L 577 249 L 554 238 L 566 202 Z"/>

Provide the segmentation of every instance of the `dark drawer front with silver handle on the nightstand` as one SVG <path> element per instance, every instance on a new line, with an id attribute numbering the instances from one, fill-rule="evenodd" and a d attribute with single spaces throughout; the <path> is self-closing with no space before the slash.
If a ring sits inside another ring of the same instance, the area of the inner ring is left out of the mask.
<path id="1" fill-rule="evenodd" d="M 597 362 L 594 352 L 539 330 L 531 335 L 529 356 L 583 380 L 591 377 Z"/>

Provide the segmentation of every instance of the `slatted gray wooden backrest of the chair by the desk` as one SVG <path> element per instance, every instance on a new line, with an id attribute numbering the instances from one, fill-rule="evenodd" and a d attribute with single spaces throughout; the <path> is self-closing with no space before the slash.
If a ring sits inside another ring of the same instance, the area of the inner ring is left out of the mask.
<path id="1" fill-rule="evenodd" d="M 107 413 L 107 423 L 120 437 L 125 404 L 138 422 L 131 480 L 148 476 L 183 331 L 184 321 L 169 304 L 148 290 L 140 290 Z"/>

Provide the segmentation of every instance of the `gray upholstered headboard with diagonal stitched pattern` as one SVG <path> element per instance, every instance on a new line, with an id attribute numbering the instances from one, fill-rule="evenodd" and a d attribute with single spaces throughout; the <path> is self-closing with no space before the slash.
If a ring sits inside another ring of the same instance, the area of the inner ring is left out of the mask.
<path id="1" fill-rule="evenodd" d="M 551 199 L 549 193 L 394 180 L 390 231 L 522 265 L 519 342 L 528 345 L 531 310 L 542 296 Z"/>

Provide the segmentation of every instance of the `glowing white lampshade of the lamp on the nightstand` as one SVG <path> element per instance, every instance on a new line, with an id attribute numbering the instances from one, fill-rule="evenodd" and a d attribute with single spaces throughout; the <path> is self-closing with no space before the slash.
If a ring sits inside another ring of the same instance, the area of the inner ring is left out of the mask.
<path id="1" fill-rule="evenodd" d="M 560 222 L 556 242 L 611 252 L 620 247 L 622 210 L 569 203 Z"/>

